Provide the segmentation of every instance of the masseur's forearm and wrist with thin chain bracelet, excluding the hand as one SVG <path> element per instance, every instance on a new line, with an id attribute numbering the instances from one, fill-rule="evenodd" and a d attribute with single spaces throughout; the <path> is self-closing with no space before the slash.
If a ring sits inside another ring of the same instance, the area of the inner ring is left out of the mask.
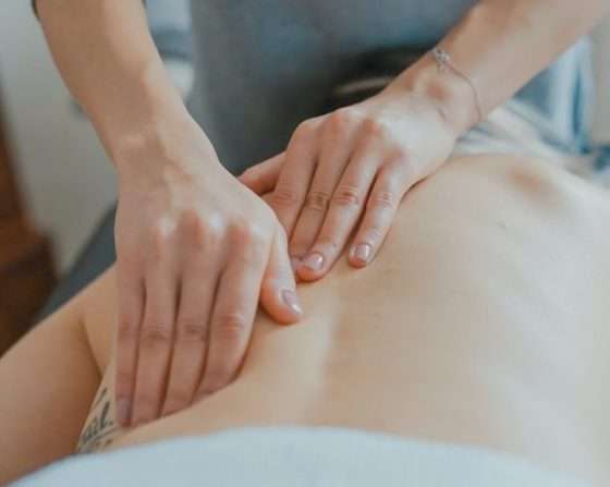
<path id="1" fill-rule="evenodd" d="M 589 32 L 608 5 L 607 0 L 481 0 L 440 42 L 474 86 L 451 70 L 441 73 L 429 56 L 396 85 L 438 98 L 464 132 L 479 110 L 485 117 Z"/>

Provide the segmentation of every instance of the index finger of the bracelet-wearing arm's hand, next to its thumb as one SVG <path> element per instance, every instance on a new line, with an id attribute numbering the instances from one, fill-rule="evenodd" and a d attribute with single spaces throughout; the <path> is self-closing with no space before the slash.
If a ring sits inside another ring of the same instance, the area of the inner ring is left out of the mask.
<path id="1" fill-rule="evenodd" d="M 316 168 L 318 123 L 317 119 L 307 120 L 294 132 L 271 195 L 271 208 L 288 235 L 292 234 Z"/>

